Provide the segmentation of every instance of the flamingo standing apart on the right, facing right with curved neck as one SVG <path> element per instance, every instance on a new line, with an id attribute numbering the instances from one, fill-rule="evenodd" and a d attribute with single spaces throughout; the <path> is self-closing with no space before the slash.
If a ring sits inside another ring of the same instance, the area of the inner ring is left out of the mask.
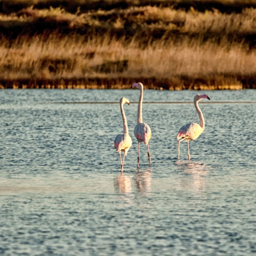
<path id="1" fill-rule="evenodd" d="M 183 140 L 187 141 L 188 160 L 190 160 L 189 140 L 197 139 L 200 136 L 200 134 L 204 131 L 204 116 L 198 105 L 198 102 L 203 98 L 210 99 L 206 94 L 197 94 L 194 97 L 194 104 L 200 118 L 200 125 L 198 123 L 187 123 L 180 128 L 176 136 L 176 139 L 178 140 L 178 160 L 180 159 L 180 142 Z"/>

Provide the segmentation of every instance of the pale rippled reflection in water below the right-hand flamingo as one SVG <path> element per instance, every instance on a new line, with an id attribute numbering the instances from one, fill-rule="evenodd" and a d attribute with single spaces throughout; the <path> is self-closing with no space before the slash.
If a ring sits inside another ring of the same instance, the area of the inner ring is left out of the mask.
<path id="1" fill-rule="evenodd" d="M 195 191 L 205 191 L 205 177 L 208 175 L 208 166 L 203 163 L 177 162 L 178 170 L 191 175 L 193 183 L 188 176 L 179 180 L 179 187 L 193 188 Z"/>

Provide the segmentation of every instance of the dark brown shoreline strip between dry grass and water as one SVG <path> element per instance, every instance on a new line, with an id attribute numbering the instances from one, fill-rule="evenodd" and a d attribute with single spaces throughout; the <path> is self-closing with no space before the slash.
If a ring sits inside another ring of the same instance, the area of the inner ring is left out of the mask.
<path id="1" fill-rule="evenodd" d="M 133 82 L 142 82 L 144 89 L 150 90 L 242 90 L 256 89 L 256 76 L 243 76 L 237 82 L 227 82 L 222 78 L 186 77 L 174 79 L 157 78 L 80 78 L 80 79 L 0 79 L 0 89 L 127 89 Z M 211 82 L 210 82 L 211 81 Z"/>

